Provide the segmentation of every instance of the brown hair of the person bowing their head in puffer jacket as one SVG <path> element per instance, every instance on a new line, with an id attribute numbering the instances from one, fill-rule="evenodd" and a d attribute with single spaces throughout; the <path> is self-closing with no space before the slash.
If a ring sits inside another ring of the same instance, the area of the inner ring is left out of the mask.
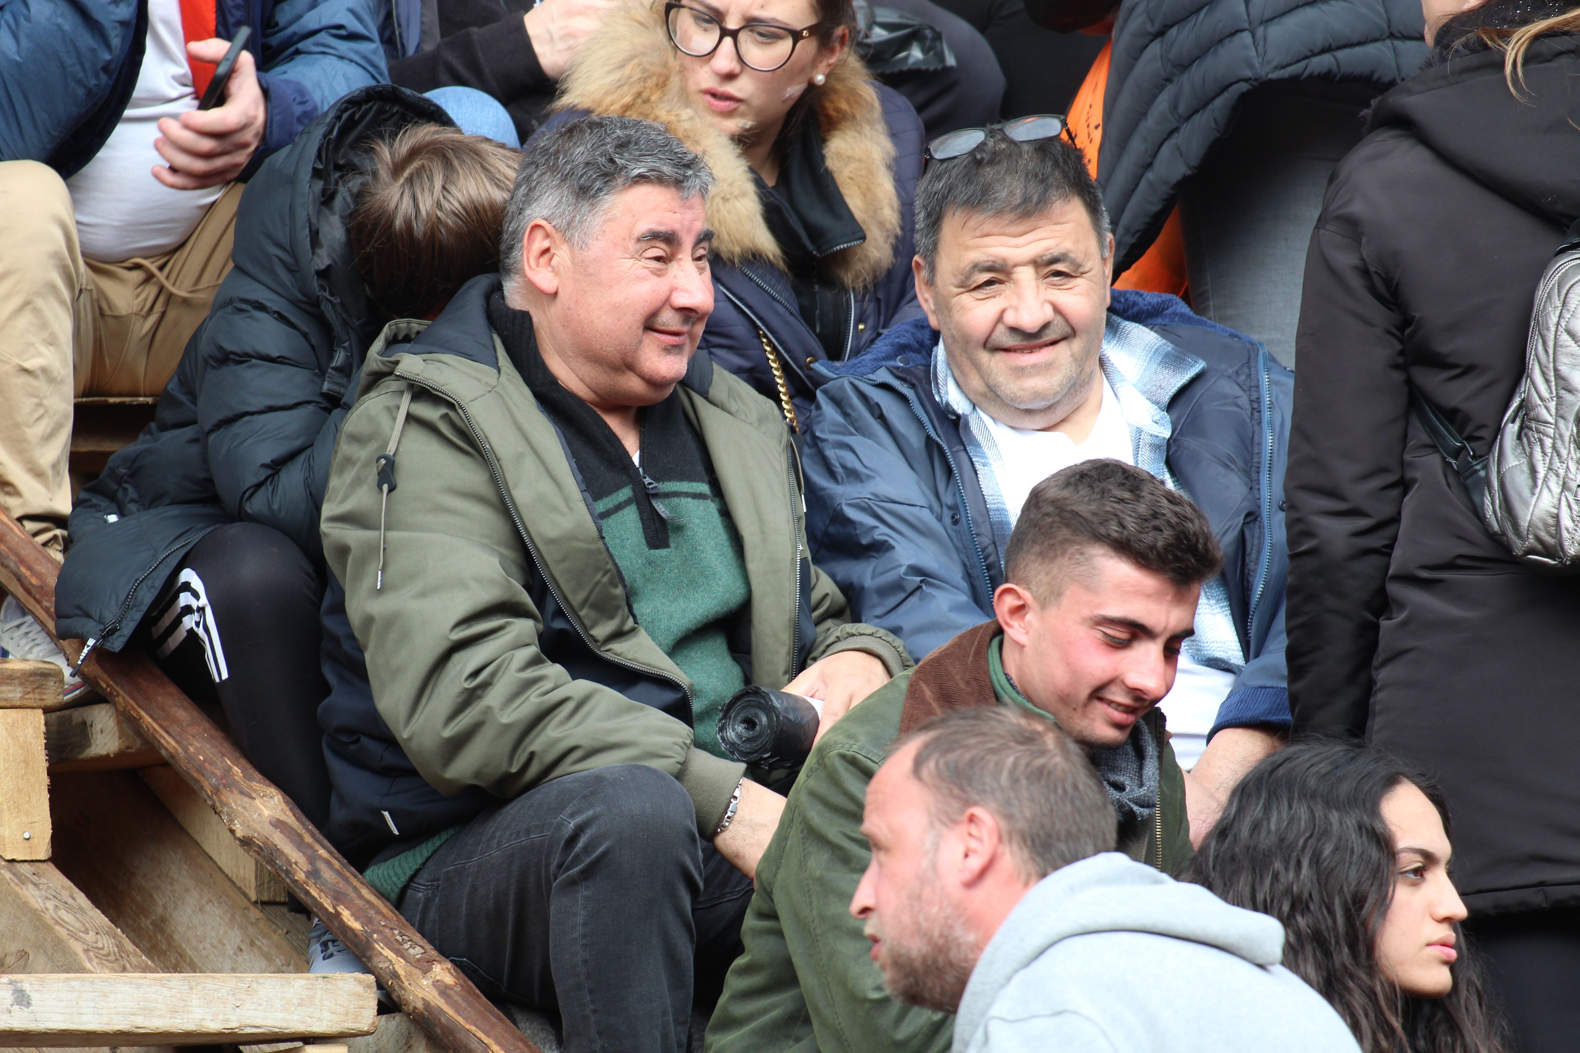
<path id="1" fill-rule="evenodd" d="M 499 268 L 499 221 L 518 150 L 447 125 L 412 125 L 368 152 L 371 171 L 346 237 L 379 308 L 425 317 Z"/>

